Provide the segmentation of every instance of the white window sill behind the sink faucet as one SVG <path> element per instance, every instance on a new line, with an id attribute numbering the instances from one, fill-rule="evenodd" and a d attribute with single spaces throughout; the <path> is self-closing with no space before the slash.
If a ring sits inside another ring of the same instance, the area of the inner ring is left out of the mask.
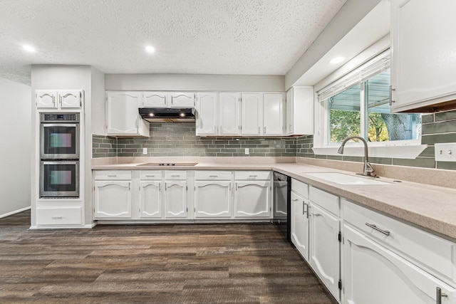
<path id="1" fill-rule="evenodd" d="M 314 153 L 317 155 L 338 155 L 339 146 L 336 147 L 313 147 Z M 401 159 L 415 159 L 420 155 L 427 145 L 400 145 L 400 146 L 374 146 L 369 147 L 369 157 L 387 157 Z M 363 146 L 346 146 L 343 150 L 343 155 L 346 156 L 364 156 Z"/>

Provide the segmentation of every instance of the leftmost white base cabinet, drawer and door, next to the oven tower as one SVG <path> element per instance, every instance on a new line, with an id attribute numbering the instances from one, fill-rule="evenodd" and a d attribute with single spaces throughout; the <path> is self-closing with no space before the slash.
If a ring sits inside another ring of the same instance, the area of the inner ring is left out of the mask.
<path id="1" fill-rule="evenodd" d="M 94 218 L 132 218 L 131 171 L 95 171 Z"/>

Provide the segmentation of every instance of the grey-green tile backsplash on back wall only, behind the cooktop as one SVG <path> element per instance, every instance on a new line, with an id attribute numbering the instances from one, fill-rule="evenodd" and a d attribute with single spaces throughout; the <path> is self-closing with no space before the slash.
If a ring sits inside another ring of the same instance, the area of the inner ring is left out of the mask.
<path id="1" fill-rule="evenodd" d="M 93 135 L 97 157 L 296 157 L 296 137 L 197 137 L 195 122 L 151 123 L 150 137 Z M 142 149 L 147 148 L 147 154 Z"/>

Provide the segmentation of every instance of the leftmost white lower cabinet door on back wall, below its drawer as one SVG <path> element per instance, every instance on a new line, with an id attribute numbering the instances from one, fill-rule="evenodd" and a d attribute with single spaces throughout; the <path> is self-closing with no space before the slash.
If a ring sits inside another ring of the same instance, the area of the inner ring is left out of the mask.
<path id="1" fill-rule="evenodd" d="M 95 219 L 131 219 L 131 182 L 95 182 Z"/>

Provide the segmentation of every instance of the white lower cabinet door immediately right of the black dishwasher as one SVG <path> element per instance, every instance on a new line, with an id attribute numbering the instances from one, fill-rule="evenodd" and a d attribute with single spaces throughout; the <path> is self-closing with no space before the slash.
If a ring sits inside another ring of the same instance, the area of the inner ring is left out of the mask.
<path id="1" fill-rule="evenodd" d="M 291 192 L 291 242 L 309 261 L 309 201 Z"/>

